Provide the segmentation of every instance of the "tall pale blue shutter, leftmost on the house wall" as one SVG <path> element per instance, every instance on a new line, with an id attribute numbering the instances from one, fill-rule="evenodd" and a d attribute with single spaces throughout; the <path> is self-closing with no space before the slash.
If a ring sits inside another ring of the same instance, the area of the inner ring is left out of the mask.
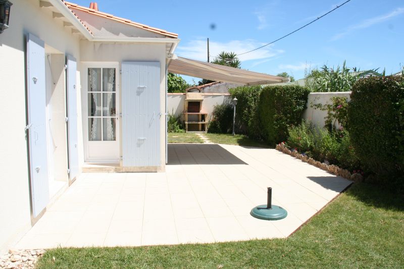
<path id="1" fill-rule="evenodd" d="M 32 213 L 37 217 L 49 201 L 46 148 L 45 44 L 27 37 L 28 144 Z"/>

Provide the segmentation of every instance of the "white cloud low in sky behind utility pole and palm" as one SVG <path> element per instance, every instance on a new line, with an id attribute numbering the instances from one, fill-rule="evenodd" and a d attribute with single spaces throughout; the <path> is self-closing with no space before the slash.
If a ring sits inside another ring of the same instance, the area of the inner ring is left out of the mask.
<path id="1" fill-rule="evenodd" d="M 231 40 L 228 42 L 216 42 L 210 40 L 209 49 L 211 56 L 217 56 L 221 51 L 233 51 L 236 53 L 243 53 L 245 51 L 255 49 L 265 43 L 258 42 L 252 39 L 246 40 Z M 263 60 L 275 57 L 284 51 L 282 49 L 275 49 L 272 45 L 251 51 L 245 55 L 240 55 L 241 62 L 250 60 Z M 193 60 L 206 61 L 207 60 L 207 43 L 206 40 L 191 40 L 186 44 L 178 45 L 176 54 L 181 57 L 190 58 Z M 214 58 L 211 57 L 211 61 Z"/>

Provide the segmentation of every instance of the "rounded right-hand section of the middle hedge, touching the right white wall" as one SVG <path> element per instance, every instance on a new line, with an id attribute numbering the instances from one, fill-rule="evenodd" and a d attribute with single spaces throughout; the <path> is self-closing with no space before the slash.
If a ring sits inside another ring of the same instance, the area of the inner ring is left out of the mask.
<path id="1" fill-rule="evenodd" d="M 258 126 L 261 136 L 275 145 L 288 137 L 288 128 L 298 125 L 310 91 L 298 85 L 268 86 L 260 92 Z"/>

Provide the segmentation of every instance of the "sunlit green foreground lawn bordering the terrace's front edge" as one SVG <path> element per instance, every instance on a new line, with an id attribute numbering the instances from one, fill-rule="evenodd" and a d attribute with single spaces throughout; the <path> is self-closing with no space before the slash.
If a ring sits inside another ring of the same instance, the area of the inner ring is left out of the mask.
<path id="1" fill-rule="evenodd" d="M 402 196 L 357 183 L 287 239 L 128 248 L 58 248 L 48 250 L 37 266 L 403 268 L 402 201 Z"/>

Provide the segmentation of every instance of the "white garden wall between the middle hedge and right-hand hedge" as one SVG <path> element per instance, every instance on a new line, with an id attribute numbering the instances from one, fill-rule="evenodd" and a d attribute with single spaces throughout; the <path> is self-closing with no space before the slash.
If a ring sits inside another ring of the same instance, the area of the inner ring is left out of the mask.
<path id="1" fill-rule="evenodd" d="M 331 104 L 331 98 L 334 96 L 346 97 L 350 100 L 350 91 L 347 92 L 312 92 L 309 93 L 307 100 L 307 109 L 303 114 L 305 120 L 311 121 L 317 127 L 323 128 L 325 124 L 324 118 L 327 117 L 327 110 L 315 109 L 315 104 L 327 105 Z"/>

